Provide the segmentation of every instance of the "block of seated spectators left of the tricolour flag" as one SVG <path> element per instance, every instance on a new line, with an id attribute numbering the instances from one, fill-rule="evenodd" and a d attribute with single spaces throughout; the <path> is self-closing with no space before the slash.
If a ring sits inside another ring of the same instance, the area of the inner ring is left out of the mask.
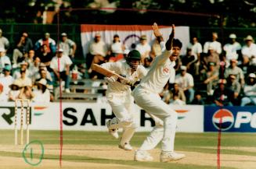
<path id="1" fill-rule="evenodd" d="M 76 43 L 61 33 L 61 40 L 50 33 L 32 42 L 26 31 L 20 34 L 8 56 L 9 40 L 0 30 L 0 100 L 17 98 L 49 103 L 54 100 L 54 88 L 64 82 L 64 92 L 70 93 L 70 66 L 74 65 Z"/>

